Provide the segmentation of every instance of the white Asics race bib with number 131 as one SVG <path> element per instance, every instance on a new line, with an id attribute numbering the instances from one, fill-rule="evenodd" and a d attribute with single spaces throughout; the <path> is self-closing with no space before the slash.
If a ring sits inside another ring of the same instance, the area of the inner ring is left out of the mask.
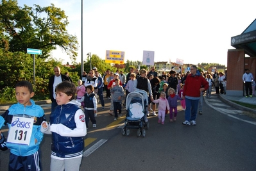
<path id="1" fill-rule="evenodd" d="M 7 142 L 30 145 L 34 118 L 13 117 Z"/>

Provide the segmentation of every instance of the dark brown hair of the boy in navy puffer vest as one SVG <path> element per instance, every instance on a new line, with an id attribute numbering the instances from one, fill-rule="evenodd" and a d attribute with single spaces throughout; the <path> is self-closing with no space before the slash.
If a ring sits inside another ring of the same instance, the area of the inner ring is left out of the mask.
<path id="1" fill-rule="evenodd" d="M 72 101 L 76 95 L 76 85 L 74 83 L 71 83 L 69 81 L 62 81 L 62 83 L 58 84 L 56 86 L 56 93 L 62 92 L 66 95 L 72 95 L 70 101 Z"/>

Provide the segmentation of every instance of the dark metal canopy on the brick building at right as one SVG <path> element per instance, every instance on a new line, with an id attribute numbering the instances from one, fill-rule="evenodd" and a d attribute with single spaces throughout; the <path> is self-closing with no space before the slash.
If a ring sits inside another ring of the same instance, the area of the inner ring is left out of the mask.
<path id="1" fill-rule="evenodd" d="M 235 49 L 244 49 L 249 56 L 256 56 L 256 19 L 241 35 L 231 37 L 231 45 Z"/>

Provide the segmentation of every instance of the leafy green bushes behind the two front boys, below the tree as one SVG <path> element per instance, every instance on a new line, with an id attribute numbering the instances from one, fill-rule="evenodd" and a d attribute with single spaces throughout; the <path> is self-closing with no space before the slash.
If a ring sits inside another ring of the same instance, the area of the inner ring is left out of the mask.
<path id="1" fill-rule="evenodd" d="M 46 61 L 38 58 L 35 55 L 35 98 L 47 99 L 49 97 L 48 83 L 49 77 L 54 74 L 53 67 L 59 66 L 62 74 L 69 71 L 69 67 L 64 67 L 62 61 L 49 60 Z M 15 84 L 22 80 L 34 82 L 33 77 L 33 55 L 22 52 L 11 53 L 0 49 L 0 93 L 3 101 L 3 96 L 10 101 L 15 94 L 10 94 L 11 90 L 15 88 Z M 78 81 L 80 76 L 78 72 L 70 72 L 69 76 L 74 83 Z"/>

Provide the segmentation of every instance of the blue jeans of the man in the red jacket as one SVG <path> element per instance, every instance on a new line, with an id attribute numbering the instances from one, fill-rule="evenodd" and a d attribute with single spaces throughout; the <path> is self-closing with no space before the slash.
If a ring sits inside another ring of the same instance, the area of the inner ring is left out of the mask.
<path id="1" fill-rule="evenodd" d="M 185 98 L 186 110 L 185 110 L 185 120 L 191 121 L 196 120 L 196 114 L 198 113 L 198 102 L 199 99 L 191 100 Z"/>

